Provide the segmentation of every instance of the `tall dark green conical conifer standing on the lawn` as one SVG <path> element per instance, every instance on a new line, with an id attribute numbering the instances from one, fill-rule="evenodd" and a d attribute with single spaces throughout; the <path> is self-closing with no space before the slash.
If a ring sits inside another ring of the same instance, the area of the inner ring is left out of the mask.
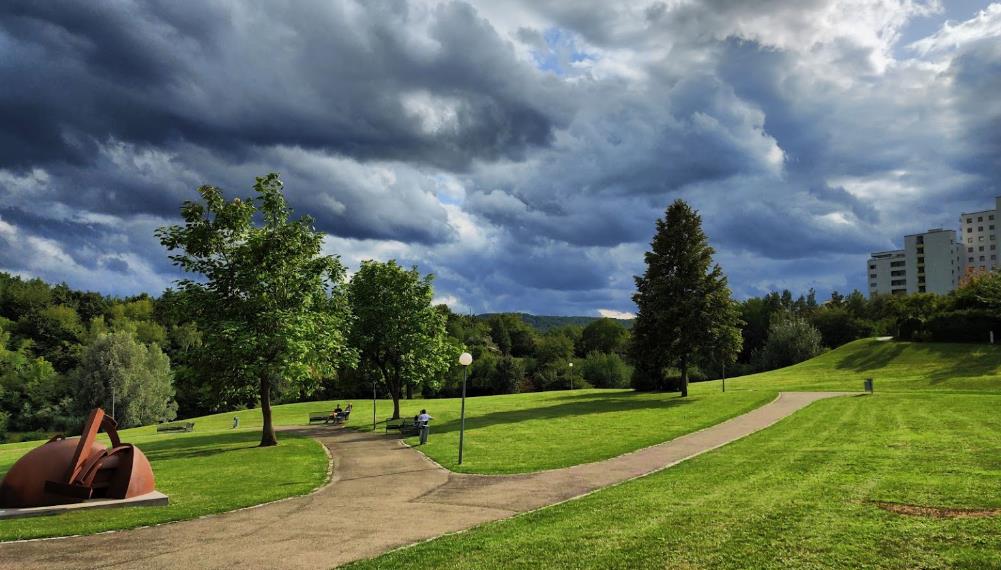
<path id="1" fill-rule="evenodd" d="M 647 271 L 636 277 L 633 301 L 633 385 L 680 391 L 688 396 L 689 369 L 697 364 L 732 362 L 741 349 L 740 314 L 702 218 L 684 200 L 672 203 L 646 253 Z M 666 386 L 665 370 L 681 378 Z"/>

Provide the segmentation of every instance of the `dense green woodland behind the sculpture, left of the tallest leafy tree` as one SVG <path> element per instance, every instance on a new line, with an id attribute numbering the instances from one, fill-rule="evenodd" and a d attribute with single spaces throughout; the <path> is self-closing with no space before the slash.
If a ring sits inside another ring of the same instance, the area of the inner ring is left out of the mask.
<path id="1" fill-rule="evenodd" d="M 0 439 L 78 430 L 105 401 L 126 426 L 173 419 L 170 363 L 185 362 L 198 332 L 171 323 L 168 304 L 0 273 Z"/>

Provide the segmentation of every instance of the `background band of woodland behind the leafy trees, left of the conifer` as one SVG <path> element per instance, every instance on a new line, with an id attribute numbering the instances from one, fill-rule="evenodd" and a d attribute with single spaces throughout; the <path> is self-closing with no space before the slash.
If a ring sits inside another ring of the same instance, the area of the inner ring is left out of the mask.
<path id="1" fill-rule="evenodd" d="M 189 308 L 174 291 L 119 299 L 0 272 L 0 438 L 71 433 L 90 408 L 112 400 L 124 426 L 256 406 L 252 392 L 220 390 L 217 355 L 203 347 Z M 445 318 L 448 342 L 473 356 L 472 395 L 565 389 L 572 381 L 576 388 L 629 385 L 629 331 L 615 320 L 540 333 L 517 315 L 435 310 Z M 404 379 L 404 397 L 456 395 L 461 370 L 445 376 L 419 385 Z M 363 370 L 340 370 L 314 394 L 278 401 L 366 397 L 371 380 Z M 387 395 L 381 382 L 377 391 Z"/>

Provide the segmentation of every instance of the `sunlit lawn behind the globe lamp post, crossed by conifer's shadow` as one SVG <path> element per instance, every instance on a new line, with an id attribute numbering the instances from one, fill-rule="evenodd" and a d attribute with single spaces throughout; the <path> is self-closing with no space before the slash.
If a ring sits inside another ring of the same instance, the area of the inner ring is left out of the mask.
<path id="1" fill-rule="evenodd" d="M 616 457 L 749 412 L 774 391 L 721 394 L 696 386 L 688 398 L 626 390 L 575 390 L 466 400 L 458 465 L 459 401 L 404 402 L 401 415 L 426 407 L 434 417 L 420 451 L 451 471 L 525 473 Z M 353 419 L 353 418 L 352 418 Z M 368 425 L 368 429 L 371 426 Z M 410 445 L 417 438 L 409 438 Z"/>

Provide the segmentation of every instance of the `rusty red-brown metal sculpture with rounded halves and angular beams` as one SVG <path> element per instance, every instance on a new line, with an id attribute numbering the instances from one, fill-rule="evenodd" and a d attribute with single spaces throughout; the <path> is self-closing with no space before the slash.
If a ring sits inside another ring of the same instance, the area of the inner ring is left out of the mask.
<path id="1" fill-rule="evenodd" d="M 104 429 L 111 448 L 97 443 Z M 128 499 L 155 487 L 149 460 L 118 438 L 118 424 L 96 408 L 79 439 L 56 436 L 11 467 L 0 483 L 0 507 L 47 507 L 87 499 Z"/>

